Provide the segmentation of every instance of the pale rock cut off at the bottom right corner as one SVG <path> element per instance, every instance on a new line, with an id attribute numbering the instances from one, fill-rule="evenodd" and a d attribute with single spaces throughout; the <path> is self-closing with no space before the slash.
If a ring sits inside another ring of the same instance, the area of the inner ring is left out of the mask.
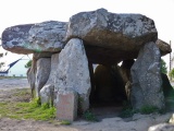
<path id="1" fill-rule="evenodd" d="M 150 127 L 148 131 L 174 131 L 174 124 L 160 123 Z"/>

